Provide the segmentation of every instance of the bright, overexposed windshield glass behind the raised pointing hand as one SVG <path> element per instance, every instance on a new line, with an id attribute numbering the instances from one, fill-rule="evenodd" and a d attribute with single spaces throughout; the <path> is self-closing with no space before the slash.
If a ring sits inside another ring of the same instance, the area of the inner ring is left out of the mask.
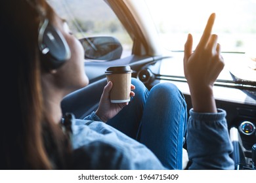
<path id="1" fill-rule="evenodd" d="M 256 0 L 146 2 L 162 40 L 171 40 L 165 45 L 170 50 L 183 50 L 188 33 L 196 45 L 209 15 L 215 12 L 213 33 L 219 35 L 223 51 L 256 54 Z"/>

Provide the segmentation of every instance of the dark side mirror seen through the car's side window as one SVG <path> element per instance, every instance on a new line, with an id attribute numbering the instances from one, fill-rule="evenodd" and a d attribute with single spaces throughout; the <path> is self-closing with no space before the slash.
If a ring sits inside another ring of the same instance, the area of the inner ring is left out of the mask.
<path id="1" fill-rule="evenodd" d="M 123 48 L 114 37 L 87 37 L 79 39 L 85 50 L 85 59 L 114 60 L 121 58 Z"/>

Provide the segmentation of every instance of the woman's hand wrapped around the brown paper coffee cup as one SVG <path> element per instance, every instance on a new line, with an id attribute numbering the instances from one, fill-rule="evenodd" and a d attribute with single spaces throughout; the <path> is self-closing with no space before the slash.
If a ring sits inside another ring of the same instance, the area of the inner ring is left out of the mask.
<path id="1" fill-rule="evenodd" d="M 107 122 L 126 105 L 128 105 L 128 102 L 126 103 L 111 103 L 110 102 L 110 90 L 112 89 L 112 82 L 108 82 L 108 84 L 104 87 L 103 93 L 100 97 L 100 104 L 98 106 L 98 109 L 96 110 L 97 116 L 102 120 L 102 122 Z M 134 90 L 135 86 L 131 84 L 131 90 Z M 131 97 L 134 97 L 135 93 L 131 92 Z"/>

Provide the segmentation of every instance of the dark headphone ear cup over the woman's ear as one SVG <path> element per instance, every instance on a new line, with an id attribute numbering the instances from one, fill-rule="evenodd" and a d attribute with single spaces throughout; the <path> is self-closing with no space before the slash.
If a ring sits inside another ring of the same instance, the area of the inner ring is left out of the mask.
<path id="1" fill-rule="evenodd" d="M 39 50 L 45 69 L 58 69 L 68 59 L 71 53 L 68 43 L 58 29 L 45 20 L 39 30 Z"/>

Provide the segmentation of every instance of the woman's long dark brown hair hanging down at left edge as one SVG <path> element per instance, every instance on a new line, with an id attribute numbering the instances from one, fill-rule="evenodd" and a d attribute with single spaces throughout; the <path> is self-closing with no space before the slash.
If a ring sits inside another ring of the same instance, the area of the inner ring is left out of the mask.
<path id="1" fill-rule="evenodd" d="M 44 111 L 41 91 L 38 28 L 42 14 L 51 19 L 53 9 L 44 0 L 8 0 L 1 1 L 0 14 L 1 67 L 8 72 L 1 77 L 7 100 L 0 168 L 69 169 L 69 142 Z"/>

